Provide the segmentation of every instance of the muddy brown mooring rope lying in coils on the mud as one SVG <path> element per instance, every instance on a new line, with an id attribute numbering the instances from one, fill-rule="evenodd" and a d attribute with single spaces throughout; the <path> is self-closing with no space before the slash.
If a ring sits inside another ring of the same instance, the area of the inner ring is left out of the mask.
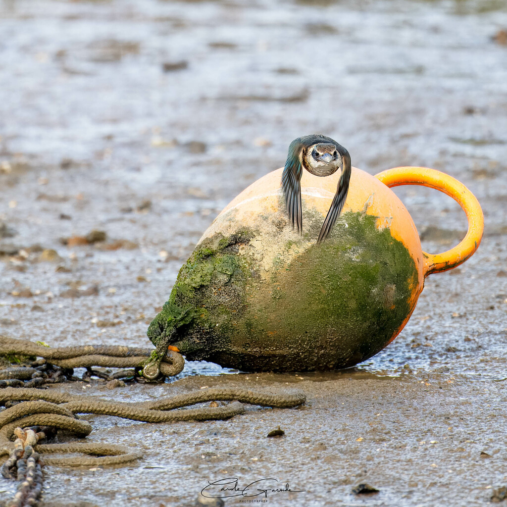
<path id="1" fill-rule="evenodd" d="M 100 414 L 150 423 L 176 421 L 224 420 L 245 412 L 243 403 L 262 407 L 292 408 L 305 402 L 299 389 L 282 388 L 276 392 L 252 391 L 244 388 L 206 388 L 168 396 L 144 403 L 125 403 L 98 400 L 46 390 L 44 383 L 81 380 L 74 376 L 74 368 L 87 368 L 89 375 L 104 376 L 93 371 L 93 366 L 133 368 L 123 375 L 138 373 L 146 361 L 153 361 L 152 351 L 122 346 L 85 345 L 51 348 L 33 342 L 0 337 L 0 356 L 38 356 L 29 367 L 0 370 L 0 461 L 4 477 L 16 477 L 18 491 L 9 507 L 37 505 L 42 491 L 42 465 L 106 466 L 121 465 L 142 458 L 137 451 L 105 443 L 40 444 L 56 430 L 65 430 L 77 438 L 90 434 L 90 423 L 80 420 L 78 414 Z M 160 356 L 156 358 L 159 364 Z M 183 357 L 169 350 L 160 360 L 163 376 L 176 375 L 183 370 Z M 56 367 L 56 373 L 55 373 Z M 56 376 L 56 379 L 55 379 Z M 105 376 L 119 378 L 118 374 Z M 120 375 L 121 377 L 121 375 Z M 34 381 L 35 387 L 34 387 Z M 174 410 L 205 402 L 231 402 L 223 406 Z M 24 429 L 21 429 L 24 428 Z M 18 437 L 13 443 L 12 437 Z M 47 454 L 80 453 L 86 456 L 44 457 Z M 13 470 L 17 470 L 14 475 Z"/>

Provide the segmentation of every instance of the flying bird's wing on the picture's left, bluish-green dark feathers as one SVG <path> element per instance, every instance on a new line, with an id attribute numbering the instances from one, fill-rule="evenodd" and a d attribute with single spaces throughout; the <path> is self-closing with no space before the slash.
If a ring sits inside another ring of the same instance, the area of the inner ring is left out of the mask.
<path id="1" fill-rule="evenodd" d="M 288 148 L 287 161 L 282 173 L 282 191 L 285 199 L 285 208 L 287 210 L 289 220 L 298 228 L 299 234 L 303 232 L 303 213 L 301 210 L 301 174 L 303 167 L 301 166 L 301 151 L 303 144 L 300 139 L 291 142 Z"/>

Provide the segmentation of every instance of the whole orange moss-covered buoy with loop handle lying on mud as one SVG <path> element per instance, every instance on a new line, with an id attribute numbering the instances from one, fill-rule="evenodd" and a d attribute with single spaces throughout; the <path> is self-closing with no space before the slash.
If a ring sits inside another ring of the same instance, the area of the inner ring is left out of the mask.
<path id="1" fill-rule="evenodd" d="M 150 324 L 190 360 L 243 371 L 353 366 L 408 322 L 430 273 L 452 269 L 479 246 L 484 219 L 451 176 L 397 167 L 372 176 L 352 167 L 343 210 L 317 244 L 339 171 L 301 177 L 302 234 L 287 218 L 282 169 L 239 194 L 217 216 L 180 269 L 169 301 Z M 454 198 L 468 232 L 454 248 L 423 252 L 414 222 L 389 187 L 424 185 Z"/>

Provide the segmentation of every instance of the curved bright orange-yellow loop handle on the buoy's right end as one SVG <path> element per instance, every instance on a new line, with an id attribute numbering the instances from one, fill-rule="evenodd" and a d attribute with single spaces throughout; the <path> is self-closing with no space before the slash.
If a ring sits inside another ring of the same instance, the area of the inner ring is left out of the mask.
<path id="1" fill-rule="evenodd" d="M 388 187 L 423 185 L 424 187 L 440 190 L 452 197 L 466 213 L 468 231 L 458 245 L 436 255 L 422 252 L 424 256 L 424 276 L 455 268 L 477 250 L 484 230 L 484 215 L 475 195 L 457 179 L 427 167 L 394 167 L 379 172 L 375 177 Z"/>

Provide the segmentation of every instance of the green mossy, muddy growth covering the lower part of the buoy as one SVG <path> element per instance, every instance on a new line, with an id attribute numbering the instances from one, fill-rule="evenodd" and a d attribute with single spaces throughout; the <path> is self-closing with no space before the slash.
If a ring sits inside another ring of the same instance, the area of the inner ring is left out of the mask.
<path id="1" fill-rule="evenodd" d="M 177 327 L 171 342 L 188 359 L 244 371 L 345 368 L 371 357 L 412 311 L 418 280 L 405 245 L 376 222 L 343 213 L 318 245 L 295 234 L 278 246 L 275 236 L 269 273 L 255 232 L 208 238 L 180 269 L 150 339 Z"/>

